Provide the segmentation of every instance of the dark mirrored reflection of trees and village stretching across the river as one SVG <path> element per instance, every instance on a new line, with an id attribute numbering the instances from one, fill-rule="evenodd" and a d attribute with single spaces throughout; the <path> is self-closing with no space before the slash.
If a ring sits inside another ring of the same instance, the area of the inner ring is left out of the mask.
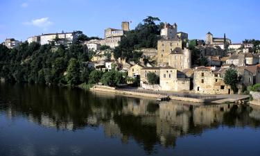
<path id="1" fill-rule="evenodd" d="M 56 130 L 103 128 L 106 137 L 120 138 L 123 144 L 133 138 L 147 153 L 153 153 L 157 144 L 175 147 L 178 137 L 200 135 L 218 126 L 260 126 L 260 107 L 255 106 L 158 103 L 146 98 L 30 85 L 1 84 L 0 114 L 9 119 L 24 116 Z M 56 153 L 57 147 L 50 146 L 49 151 Z"/>

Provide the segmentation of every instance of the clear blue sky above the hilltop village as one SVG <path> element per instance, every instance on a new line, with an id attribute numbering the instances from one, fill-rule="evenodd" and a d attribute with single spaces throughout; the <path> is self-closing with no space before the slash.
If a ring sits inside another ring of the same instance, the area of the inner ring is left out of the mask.
<path id="1" fill-rule="evenodd" d="M 135 28 L 148 15 L 176 22 L 189 39 L 208 31 L 232 42 L 260 39 L 259 0 L 0 0 L 0 42 L 62 30 L 103 37 L 105 28 L 121 28 L 121 21 Z"/>

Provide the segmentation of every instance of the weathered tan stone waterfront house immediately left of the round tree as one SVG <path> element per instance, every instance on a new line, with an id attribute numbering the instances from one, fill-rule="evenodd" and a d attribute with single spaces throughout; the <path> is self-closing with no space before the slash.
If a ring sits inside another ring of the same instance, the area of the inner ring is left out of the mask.
<path id="1" fill-rule="evenodd" d="M 230 86 L 225 85 L 224 68 L 196 67 L 194 69 L 193 84 L 199 94 L 232 94 Z"/>

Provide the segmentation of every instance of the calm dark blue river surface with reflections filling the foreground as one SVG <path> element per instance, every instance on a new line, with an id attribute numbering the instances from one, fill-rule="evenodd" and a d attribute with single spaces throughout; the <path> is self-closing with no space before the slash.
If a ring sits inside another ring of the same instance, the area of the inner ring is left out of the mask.
<path id="1" fill-rule="evenodd" d="M 260 107 L 0 84 L 0 156 L 260 155 Z"/>

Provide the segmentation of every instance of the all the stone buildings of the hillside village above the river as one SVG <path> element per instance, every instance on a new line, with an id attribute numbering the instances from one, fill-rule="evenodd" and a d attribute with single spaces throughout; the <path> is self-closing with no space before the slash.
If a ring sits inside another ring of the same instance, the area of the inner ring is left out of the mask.
<path id="1" fill-rule="evenodd" d="M 92 60 L 85 62 L 87 67 L 102 71 L 110 71 L 113 67 L 121 72 L 128 72 L 132 78 L 140 78 L 140 87 L 162 91 L 193 91 L 200 94 L 233 94 L 230 86 L 224 83 L 225 71 L 234 68 L 239 73 L 239 92 L 243 88 L 260 83 L 260 54 L 253 53 L 253 44 L 232 44 L 224 37 L 214 37 L 207 33 L 205 42 L 196 40 L 196 48 L 200 51 L 200 58 L 207 59 L 207 67 L 193 67 L 192 53 L 188 44 L 188 33 L 177 31 L 177 24 L 165 23 L 161 29 L 161 39 L 157 41 L 157 49 L 139 49 L 143 56 L 140 62 L 126 62 L 125 59 L 115 59 L 114 47 L 119 45 L 121 38 L 130 31 L 129 22 L 123 21 L 121 29 L 105 29 L 105 38 L 89 40 L 89 51 L 93 51 Z M 78 39 L 78 32 L 50 33 L 28 38 L 28 43 L 38 42 L 48 44 L 57 37 L 63 44 L 71 44 Z M 12 49 L 19 44 L 15 39 L 3 42 Z M 101 50 L 101 46 L 110 49 Z M 144 63 L 144 58 L 153 60 L 155 64 Z M 156 73 L 159 84 L 149 85 L 147 73 Z"/>

